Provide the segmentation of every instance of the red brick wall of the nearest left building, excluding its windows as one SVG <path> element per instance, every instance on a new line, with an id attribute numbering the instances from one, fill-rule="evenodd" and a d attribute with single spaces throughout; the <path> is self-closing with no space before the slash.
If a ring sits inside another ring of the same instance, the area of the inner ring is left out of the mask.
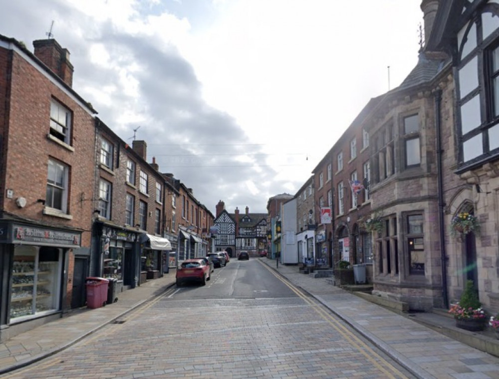
<path id="1" fill-rule="evenodd" d="M 81 201 L 93 195 L 94 178 L 94 122 L 93 115 L 76 102 L 72 96 L 53 84 L 30 62 L 13 53 L 11 69 L 11 91 L 5 100 L 5 63 L 8 52 L 0 50 L 1 104 L 8 104 L 7 112 L 2 108 L 4 128 L 8 114 L 8 136 L 3 139 L 4 152 L 1 182 L 3 189 L 12 189 L 13 198 L 2 193 L 2 208 L 20 217 L 29 218 L 53 227 L 75 227 L 83 231 L 82 247 L 90 248 L 91 201 Z M 47 139 L 49 133 L 50 100 L 57 99 L 72 111 L 71 151 Z M 7 149 L 8 150 L 5 150 Z M 44 215 L 44 206 L 37 199 L 45 199 L 48 159 L 58 160 L 69 167 L 68 214 L 72 219 Z M 19 208 L 15 200 L 26 199 L 26 206 Z M 67 276 L 72 282 L 72 255 Z M 65 308 L 70 306 L 72 285 L 68 283 Z"/>

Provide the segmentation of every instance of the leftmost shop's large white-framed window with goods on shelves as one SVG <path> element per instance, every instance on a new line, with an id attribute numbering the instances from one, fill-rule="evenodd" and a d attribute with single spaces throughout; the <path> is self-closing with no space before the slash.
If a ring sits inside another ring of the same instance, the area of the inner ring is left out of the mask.
<path id="1" fill-rule="evenodd" d="M 12 263 L 10 318 L 57 310 L 60 249 L 16 246 Z"/>

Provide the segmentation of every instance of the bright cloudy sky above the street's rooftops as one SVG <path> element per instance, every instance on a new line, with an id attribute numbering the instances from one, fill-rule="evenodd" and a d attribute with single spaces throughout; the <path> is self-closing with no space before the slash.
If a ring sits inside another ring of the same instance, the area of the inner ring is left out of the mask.
<path id="1" fill-rule="evenodd" d="M 421 0 L 0 0 L 0 34 L 69 50 L 73 89 L 215 215 L 295 195 L 416 65 Z"/>

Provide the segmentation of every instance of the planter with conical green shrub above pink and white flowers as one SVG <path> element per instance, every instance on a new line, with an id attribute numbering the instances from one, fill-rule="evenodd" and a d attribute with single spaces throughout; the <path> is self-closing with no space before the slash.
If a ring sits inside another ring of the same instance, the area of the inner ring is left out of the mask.
<path id="1" fill-rule="evenodd" d="M 473 287 L 473 280 L 466 282 L 460 301 L 451 305 L 449 313 L 454 315 L 458 328 L 472 332 L 484 330 L 487 316 L 478 299 L 477 290 Z"/>

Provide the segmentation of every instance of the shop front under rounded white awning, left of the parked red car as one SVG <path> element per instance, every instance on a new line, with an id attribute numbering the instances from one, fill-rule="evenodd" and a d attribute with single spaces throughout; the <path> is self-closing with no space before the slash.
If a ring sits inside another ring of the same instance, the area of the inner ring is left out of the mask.
<path id="1" fill-rule="evenodd" d="M 164 262 L 172 244 L 167 238 L 143 233 L 140 235 L 142 247 L 141 282 L 145 273 L 146 279 L 157 279 L 163 276 Z M 168 272 L 168 271 L 167 271 Z"/>

